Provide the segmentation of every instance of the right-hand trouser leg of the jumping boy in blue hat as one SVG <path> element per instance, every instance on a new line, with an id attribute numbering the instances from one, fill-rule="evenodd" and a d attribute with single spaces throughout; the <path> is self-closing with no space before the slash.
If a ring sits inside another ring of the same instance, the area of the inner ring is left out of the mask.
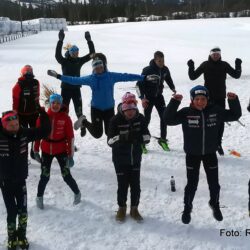
<path id="1" fill-rule="evenodd" d="M 220 185 L 218 177 L 218 159 L 216 154 L 203 156 L 203 165 L 207 175 L 207 183 L 210 191 L 210 202 L 219 205 Z"/>

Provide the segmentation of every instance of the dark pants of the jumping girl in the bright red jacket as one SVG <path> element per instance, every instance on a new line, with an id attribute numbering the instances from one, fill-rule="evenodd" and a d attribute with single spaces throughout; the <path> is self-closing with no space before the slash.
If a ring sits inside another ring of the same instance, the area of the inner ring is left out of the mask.
<path id="1" fill-rule="evenodd" d="M 76 181 L 74 180 L 74 178 L 70 173 L 70 169 L 66 166 L 67 155 L 65 153 L 58 155 L 49 155 L 42 153 L 42 163 L 41 163 L 42 172 L 38 184 L 37 196 L 41 197 L 44 195 L 46 185 L 50 178 L 51 163 L 54 157 L 57 159 L 59 163 L 63 180 L 68 184 L 68 186 L 75 194 L 78 194 L 80 192 L 79 188 L 76 184 Z"/>

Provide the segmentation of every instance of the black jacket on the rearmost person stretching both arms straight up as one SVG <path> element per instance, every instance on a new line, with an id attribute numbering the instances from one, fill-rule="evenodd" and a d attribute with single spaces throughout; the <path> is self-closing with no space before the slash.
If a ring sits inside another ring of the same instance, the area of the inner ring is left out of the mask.
<path id="1" fill-rule="evenodd" d="M 62 65 L 62 73 L 66 76 L 80 76 L 81 67 L 84 63 L 91 60 L 91 54 L 95 53 L 94 43 L 92 41 L 88 42 L 89 54 L 83 57 L 72 58 L 70 55 L 62 56 L 62 46 L 63 41 L 58 41 L 56 46 L 56 60 Z M 65 89 L 76 89 L 80 88 L 80 85 L 70 85 L 68 83 L 62 82 L 61 88 Z"/>

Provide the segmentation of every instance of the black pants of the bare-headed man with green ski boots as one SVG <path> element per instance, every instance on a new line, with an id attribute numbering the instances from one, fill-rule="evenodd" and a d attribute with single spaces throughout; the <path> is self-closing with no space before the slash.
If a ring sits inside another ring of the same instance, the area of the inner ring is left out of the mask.
<path id="1" fill-rule="evenodd" d="M 161 138 L 166 139 L 166 137 L 167 137 L 167 124 L 163 119 L 164 108 L 166 107 L 164 97 L 163 97 L 163 95 L 159 95 L 154 99 L 149 98 L 148 100 L 149 100 L 148 107 L 144 109 L 146 124 L 147 124 L 147 126 L 149 125 L 150 120 L 151 120 L 151 113 L 152 113 L 153 107 L 155 106 L 155 108 L 159 114 L 159 117 L 160 117 Z"/>

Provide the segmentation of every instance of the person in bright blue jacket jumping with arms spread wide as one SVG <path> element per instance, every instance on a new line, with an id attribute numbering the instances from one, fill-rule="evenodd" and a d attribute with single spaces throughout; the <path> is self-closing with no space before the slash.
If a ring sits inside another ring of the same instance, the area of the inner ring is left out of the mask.
<path id="1" fill-rule="evenodd" d="M 93 73 L 88 76 L 71 77 L 57 74 L 48 70 L 50 76 L 56 77 L 63 82 L 72 85 L 87 85 L 92 90 L 91 100 L 91 123 L 85 116 L 74 124 L 74 128 L 84 125 L 95 138 L 100 138 L 103 134 L 103 123 L 105 134 L 108 133 L 110 119 L 114 116 L 114 85 L 117 82 L 139 81 L 145 78 L 144 75 L 109 72 L 106 65 L 106 57 L 99 53 L 92 61 Z M 154 79 L 154 75 L 147 76 L 148 80 Z M 82 123 L 82 124 L 81 124 Z"/>

